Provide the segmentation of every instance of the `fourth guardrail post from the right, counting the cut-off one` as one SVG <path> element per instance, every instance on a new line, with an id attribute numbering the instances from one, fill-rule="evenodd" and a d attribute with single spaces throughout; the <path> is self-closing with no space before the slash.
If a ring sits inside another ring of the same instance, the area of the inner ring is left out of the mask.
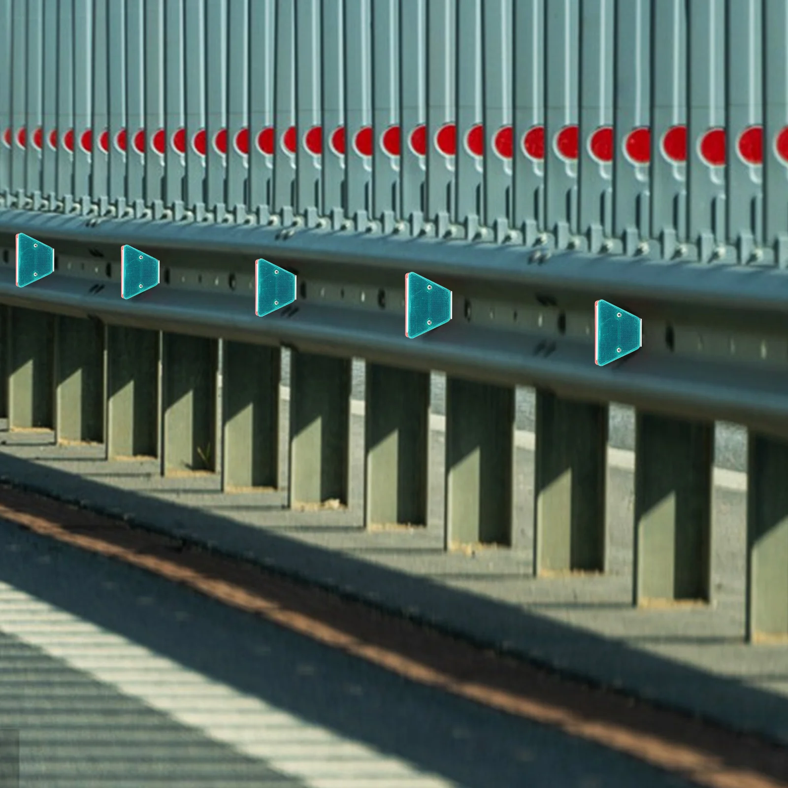
<path id="1" fill-rule="evenodd" d="M 515 390 L 446 378 L 446 547 L 511 545 Z"/>

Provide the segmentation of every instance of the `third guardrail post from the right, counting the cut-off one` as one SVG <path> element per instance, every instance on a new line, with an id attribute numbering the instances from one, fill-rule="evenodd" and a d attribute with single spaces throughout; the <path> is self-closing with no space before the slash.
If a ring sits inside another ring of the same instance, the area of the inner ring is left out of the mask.
<path id="1" fill-rule="evenodd" d="M 537 389 L 534 574 L 603 572 L 608 408 Z"/>

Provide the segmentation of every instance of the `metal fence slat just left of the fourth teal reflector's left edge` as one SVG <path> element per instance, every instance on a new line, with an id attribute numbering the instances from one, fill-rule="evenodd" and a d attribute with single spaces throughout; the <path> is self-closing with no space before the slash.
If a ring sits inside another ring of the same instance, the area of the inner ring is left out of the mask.
<path id="1" fill-rule="evenodd" d="M 398 0 L 372 3 L 372 203 L 374 217 L 387 233 L 393 231 L 400 213 L 400 151 L 396 150 L 402 145 L 399 5 Z"/>

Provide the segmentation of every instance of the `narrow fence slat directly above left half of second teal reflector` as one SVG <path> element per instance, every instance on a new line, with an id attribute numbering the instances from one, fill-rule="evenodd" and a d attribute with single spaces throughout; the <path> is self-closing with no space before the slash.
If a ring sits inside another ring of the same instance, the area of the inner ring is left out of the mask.
<path id="1" fill-rule="evenodd" d="M 126 0 L 126 199 L 136 217 L 145 209 L 145 42 L 143 0 Z"/>

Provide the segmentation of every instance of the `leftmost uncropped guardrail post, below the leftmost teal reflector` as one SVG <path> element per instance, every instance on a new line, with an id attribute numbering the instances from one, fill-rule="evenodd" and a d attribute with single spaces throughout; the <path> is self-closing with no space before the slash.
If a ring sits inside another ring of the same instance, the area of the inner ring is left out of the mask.
<path id="1" fill-rule="evenodd" d="M 9 309 L 9 429 L 52 429 L 54 317 L 46 312 Z"/>

